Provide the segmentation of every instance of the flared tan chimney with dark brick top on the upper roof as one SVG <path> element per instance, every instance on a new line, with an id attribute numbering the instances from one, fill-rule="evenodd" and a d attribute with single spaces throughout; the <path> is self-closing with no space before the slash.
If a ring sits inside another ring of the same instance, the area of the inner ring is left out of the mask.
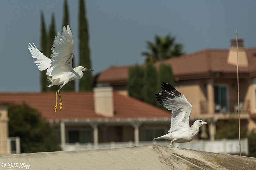
<path id="1" fill-rule="evenodd" d="M 228 53 L 228 64 L 235 65 L 237 63 L 236 59 L 236 39 L 231 39 L 231 47 L 229 48 Z M 239 38 L 237 39 L 237 49 L 238 49 L 238 66 L 248 66 L 248 59 L 246 50 L 244 48 L 244 40 Z"/>

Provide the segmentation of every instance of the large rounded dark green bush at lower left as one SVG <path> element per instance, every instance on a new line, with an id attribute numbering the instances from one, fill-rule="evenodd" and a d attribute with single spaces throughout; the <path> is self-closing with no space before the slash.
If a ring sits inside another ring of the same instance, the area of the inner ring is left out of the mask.
<path id="1" fill-rule="evenodd" d="M 21 153 L 60 151 L 53 129 L 27 104 L 9 105 L 9 136 L 20 137 Z"/>

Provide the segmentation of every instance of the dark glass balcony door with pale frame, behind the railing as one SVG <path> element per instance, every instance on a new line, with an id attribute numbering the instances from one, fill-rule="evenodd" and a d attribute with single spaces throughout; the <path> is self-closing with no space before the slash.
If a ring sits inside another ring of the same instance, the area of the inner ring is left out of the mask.
<path id="1" fill-rule="evenodd" d="M 216 113 L 228 112 L 228 86 L 214 85 L 214 103 Z"/>

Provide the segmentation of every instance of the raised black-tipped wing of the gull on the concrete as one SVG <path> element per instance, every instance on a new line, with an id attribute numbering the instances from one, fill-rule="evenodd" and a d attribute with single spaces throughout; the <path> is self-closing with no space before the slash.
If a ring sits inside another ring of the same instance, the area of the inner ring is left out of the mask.
<path id="1" fill-rule="evenodd" d="M 169 132 L 176 130 L 187 130 L 189 126 L 189 116 L 192 110 L 192 105 L 180 92 L 168 83 L 162 84 L 163 91 L 156 94 L 156 99 L 159 103 L 172 111 L 171 128 Z"/>

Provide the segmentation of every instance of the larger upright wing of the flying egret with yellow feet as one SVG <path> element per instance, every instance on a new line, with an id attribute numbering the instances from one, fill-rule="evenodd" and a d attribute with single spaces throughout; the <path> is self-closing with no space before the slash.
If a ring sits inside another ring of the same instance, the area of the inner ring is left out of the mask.
<path id="1" fill-rule="evenodd" d="M 52 48 L 51 66 L 47 70 L 47 75 L 52 79 L 59 78 L 63 72 L 72 71 L 72 59 L 74 54 L 74 40 L 69 26 L 63 27 L 63 33 L 57 33 L 54 38 Z"/>

